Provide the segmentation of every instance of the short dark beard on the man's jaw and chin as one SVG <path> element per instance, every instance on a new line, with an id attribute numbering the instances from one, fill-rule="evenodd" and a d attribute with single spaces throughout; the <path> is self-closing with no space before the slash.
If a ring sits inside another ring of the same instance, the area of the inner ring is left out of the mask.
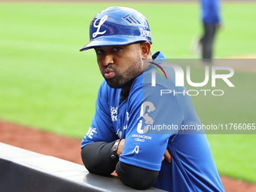
<path id="1" fill-rule="evenodd" d="M 117 69 L 114 69 L 111 65 L 106 66 L 105 68 L 112 69 L 114 71 L 114 77 L 106 79 L 107 84 L 109 87 L 118 89 L 126 87 L 130 84 L 133 84 L 133 81 L 142 73 L 142 60 L 140 59 L 139 55 L 137 56 L 137 59 L 133 62 L 133 65 L 131 65 L 131 68 L 126 70 L 126 72 L 123 72 L 123 75 L 120 74 Z M 104 72 L 104 69 L 102 71 L 102 74 Z M 104 77 L 104 75 L 103 75 Z"/>

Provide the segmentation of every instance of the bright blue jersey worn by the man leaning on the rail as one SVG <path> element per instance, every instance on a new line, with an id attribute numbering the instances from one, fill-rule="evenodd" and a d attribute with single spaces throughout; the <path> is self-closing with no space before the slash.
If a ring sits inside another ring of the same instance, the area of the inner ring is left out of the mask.
<path id="1" fill-rule="evenodd" d="M 157 59 L 161 58 L 164 57 L 158 52 Z M 152 87 L 152 70 L 155 69 L 146 69 L 133 81 L 129 96 L 120 105 L 121 90 L 102 82 L 96 111 L 81 147 L 125 139 L 119 160 L 160 171 L 154 187 L 168 191 L 224 191 L 206 135 L 184 134 L 181 129 L 200 124 L 190 96 L 160 97 L 161 90 L 182 93 L 185 87 L 175 87 L 173 70 L 166 70 L 166 81 L 156 75 L 157 84 Z M 172 163 L 162 162 L 166 148 Z"/>

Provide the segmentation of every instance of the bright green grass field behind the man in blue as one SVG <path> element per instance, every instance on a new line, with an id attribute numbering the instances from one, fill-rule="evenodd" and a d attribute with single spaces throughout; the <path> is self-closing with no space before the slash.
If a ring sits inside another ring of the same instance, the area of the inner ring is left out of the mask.
<path id="1" fill-rule="evenodd" d="M 152 52 L 197 58 L 190 50 L 202 32 L 196 3 L 0 3 L 0 118 L 81 139 L 102 76 L 94 51 L 79 49 L 89 41 L 93 16 L 114 5 L 145 14 Z M 216 58 L 256 53 L 255 9 L 255 3 L 223 3 Z M 236 88 L 227 96 L 192 98 L 203 123 L 256 123 L 255 73 L 235 74 Z M 208 138 L 221 174 L 256 183 L 255 135 Z"/>

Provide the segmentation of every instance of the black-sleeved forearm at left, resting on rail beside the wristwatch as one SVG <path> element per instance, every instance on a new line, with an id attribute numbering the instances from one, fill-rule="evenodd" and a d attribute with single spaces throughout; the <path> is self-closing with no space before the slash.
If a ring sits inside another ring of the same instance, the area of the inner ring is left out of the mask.
<path id="1" fill-rule="evenodd" d="M 84 166 L 91 173 L 110 175 L 114 172 L 118 160 L 111 158 L 111 148 L 114 142 L 93 142 L 81 150 Z"/>

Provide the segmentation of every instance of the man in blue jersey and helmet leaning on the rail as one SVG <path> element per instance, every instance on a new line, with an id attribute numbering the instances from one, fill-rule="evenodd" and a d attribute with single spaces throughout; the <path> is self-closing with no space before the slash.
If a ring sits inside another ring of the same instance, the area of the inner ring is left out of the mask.
<path id="1" fill-rule="evenodd" d="M 96 111 L 81 142 L 81 157 L 89 172 L 110 175 L 116 170 L 123 184 L 136 189 L 224 191 L 204 134 L 189 134 L 200 124 L 187 94 L 163 94 L 175 87 L 175 73 L 154 66 L 165 62 L 151 56 L 148 21 L 131 8 L 112 7 L 90 23 L 90 42 L 100 72 Z M 163 132 L 162 132 L 163 131 Z"/>

